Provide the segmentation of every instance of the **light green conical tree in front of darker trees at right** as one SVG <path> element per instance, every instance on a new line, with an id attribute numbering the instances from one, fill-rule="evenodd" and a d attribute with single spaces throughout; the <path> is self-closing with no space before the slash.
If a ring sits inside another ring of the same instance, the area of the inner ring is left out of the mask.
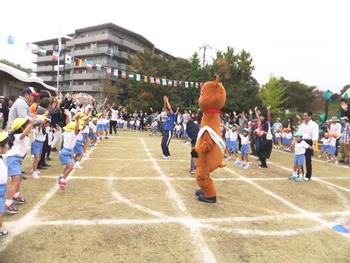
<path id="1" fill-rule="evenodd" d="M 280 80 L 275 77 L 270 77 L 269 81 L 261 89 L 260 96 L 265 106 L 270 105 L 271 113 L 280 112 L 287 101 L 285 88 L 282 87 Z"/>

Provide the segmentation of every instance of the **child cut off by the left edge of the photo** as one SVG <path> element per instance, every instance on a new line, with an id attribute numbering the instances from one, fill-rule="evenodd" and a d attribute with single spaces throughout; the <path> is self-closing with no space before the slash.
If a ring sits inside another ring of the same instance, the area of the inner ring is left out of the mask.
<path id="1" fill-rule="evenodd" d="M 3 215 L 5 212 L 5 198 L 6 198 L 6 187 L 7 187 L 7 164 L 4 159 L 4 155 L 9 150 L 9 138 L 6 132 L 0 133 L 0 237 L 6 236 L 8 233 L 2 229 Z"/>

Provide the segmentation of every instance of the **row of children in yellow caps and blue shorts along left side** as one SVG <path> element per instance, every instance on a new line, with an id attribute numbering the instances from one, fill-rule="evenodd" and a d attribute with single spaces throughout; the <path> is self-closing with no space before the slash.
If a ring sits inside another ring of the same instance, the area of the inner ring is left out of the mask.
<path id="1" fill-rule="evenodd" d="M 58 178 L 60 190 L 66 188 L 66 179 L 73 169 L 80 169 L 81 161 L 89 146 L 107 136 L 107 112 L 102 111 L 96 117 L 89 112 L 76 112 L 74 115 L 66 110 L 66 125 L 62 133 L 62 149 L 59 160 L 63 171 Z M 73 115 L 73 116 L 72 116 Z M 3 230 L 2 220 L 5 212 L 17 214 L 17 205 L 25 204 L 26 199 L 20 194 L 23 177 L 23 160 L 31 150 L 33 179 L 40 178 L 38 162 L 41 157 L 46 135 L 52 133 L 50 119 L 45 115 L 34 118 L 17 118 L 13 121 L 9 133 L 0 133 L 0 237 L 7 234 Z M 32 137 L 32 140 L 30 139 Z M 108 137 L 107 137 L 108 138 Z M 52 136 L 48 137 L 49 141 Z M 32 141 L 32 142 L 31 142 Z M 8 178 L 11 183 L 8 184 Z"/>

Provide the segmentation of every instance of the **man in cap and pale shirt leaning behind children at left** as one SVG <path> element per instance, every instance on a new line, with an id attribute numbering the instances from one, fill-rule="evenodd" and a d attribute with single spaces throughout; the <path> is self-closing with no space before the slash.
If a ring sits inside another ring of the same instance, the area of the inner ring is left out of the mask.
<path id="1" fill-rule="evenodd" d="M 29 106 L 33 104 L 34 99 L 39 97 L 39 93 L 37 93 L 34 88 L 28 87 L 22 90 L 21 96 L 13 103 L 10 111 L 9 111 L 9 120 L 7 123 L 7 129 L 11 129 L 12 122 L 17 118 L 30 118 L 32 119 L 32 115 L 29 111 Z"/>

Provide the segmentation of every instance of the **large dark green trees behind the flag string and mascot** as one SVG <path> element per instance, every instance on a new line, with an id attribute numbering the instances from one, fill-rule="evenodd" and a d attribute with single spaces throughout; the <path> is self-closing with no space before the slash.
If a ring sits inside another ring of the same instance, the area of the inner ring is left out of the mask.
<path id="1" fill-rule="evenodd" d="M 129 70 L 147 76 L 193 82 L 213 80 L 215 74 L 219 74 L 227 92 L 224 110 L 248 110 L 261 105 L 259 85 L 252 76 L 253 60 L 244 50 L 235 52 L 229 47 L 226 52 L 218 52 L 213 63 L 204 68 L 201 67 L 198 53 L 194 53 L 190 59 L 173 59 L 146 51 L 131 58 Z M 149 82 L 128 81 L 125 87 L 121 83 L 115 89 L 118 92 L 111 96 L 117 97 L 118 103 L 127 105 L 130 109 L 148 110 L 152 107 L 160 110 L 164 95 L 169 96 L 174 108 L 198 108 L 199 89 L 196 88 L 164 87 Z"/>

